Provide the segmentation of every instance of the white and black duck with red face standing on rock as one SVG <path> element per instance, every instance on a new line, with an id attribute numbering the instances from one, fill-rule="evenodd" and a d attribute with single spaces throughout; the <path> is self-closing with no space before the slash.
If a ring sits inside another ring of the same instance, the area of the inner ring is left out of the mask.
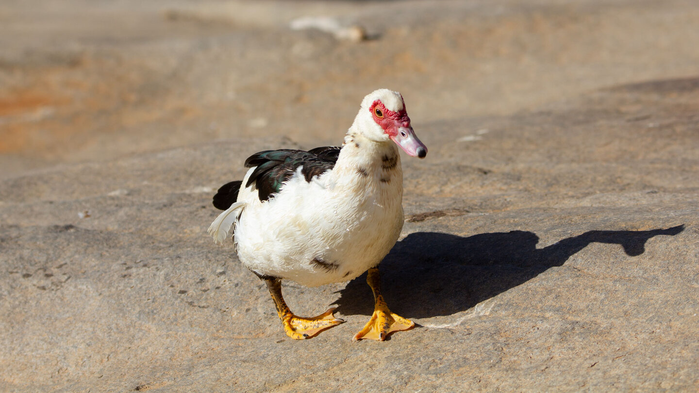
<path id="1" fill-rule="evenodd" d="M 282 327 L 302 340 L 345 322 L 329 308 L 315 317 L 289 310 L 282 280 L 308 287 L 342 283 L 367 272 L 374 311 L 354 341 L 384 341 L 415 323 L 389 310 L 378 266 L 403 229 L 401 148 L 424 158 L 399 92 L 379 89 L 361 101 L 341 146 L 265 150 L 245 160 L 243 180 L 213 197 L 224 210 L 208 228 L 233 242 L 238 259 L 266 283 Z"/>

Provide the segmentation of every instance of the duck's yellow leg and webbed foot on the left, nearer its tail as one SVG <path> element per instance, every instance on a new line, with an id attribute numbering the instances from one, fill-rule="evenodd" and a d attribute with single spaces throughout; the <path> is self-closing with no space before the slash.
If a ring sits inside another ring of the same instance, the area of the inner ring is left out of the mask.
<path id="1" fill-rule="evenodd" d="M 287 303 L 282 297 L 282 280 L 269 276 L 259 276 L 259 278 L 264 280 L 269 293 L 272 294 L 274 306 L 277 308 L 279 319 L 282 320 L 284 331 L 287 332 L 287 336 L 294 338 L 294 340 L 311 338 L 325 329 L 345 322 L 345 320 L 340 320 L 333 315 L 335 308 L 329 308 L 325 313 L 317 317 L 297 317 L 294 313 L 291 313 L 291 310 L 289 310 Z"/>

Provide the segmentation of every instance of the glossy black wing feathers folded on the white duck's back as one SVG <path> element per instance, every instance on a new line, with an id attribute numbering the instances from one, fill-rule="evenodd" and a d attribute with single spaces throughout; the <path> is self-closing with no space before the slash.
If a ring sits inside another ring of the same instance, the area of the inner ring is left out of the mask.
<path id="1" fill-rule="evenodd" d="M 327 146 L 304 150 L 265 150 L 257 152 L 245 160 L 247 168 L 253 168 L 245 187 L 254 183 L 260 201 L 268 201 L 273 194 L 282 190 L 282 185 L 301 166 L 301 174 L 307 182 L 330 171 L 338 161 L 340 148 Z"/>

